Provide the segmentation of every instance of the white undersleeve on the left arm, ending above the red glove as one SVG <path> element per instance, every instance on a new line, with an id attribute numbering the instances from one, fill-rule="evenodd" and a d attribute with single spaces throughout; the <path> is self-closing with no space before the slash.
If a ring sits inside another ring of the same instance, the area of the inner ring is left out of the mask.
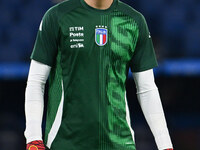
<path id="1" fill-rule="evenodd" d="M 43 97 L 49 72 L 49 66 L 36 61 L 31 62 L 25 92 L 25 137 L 27 143 L 34 140 L 42 140 Z"/>

